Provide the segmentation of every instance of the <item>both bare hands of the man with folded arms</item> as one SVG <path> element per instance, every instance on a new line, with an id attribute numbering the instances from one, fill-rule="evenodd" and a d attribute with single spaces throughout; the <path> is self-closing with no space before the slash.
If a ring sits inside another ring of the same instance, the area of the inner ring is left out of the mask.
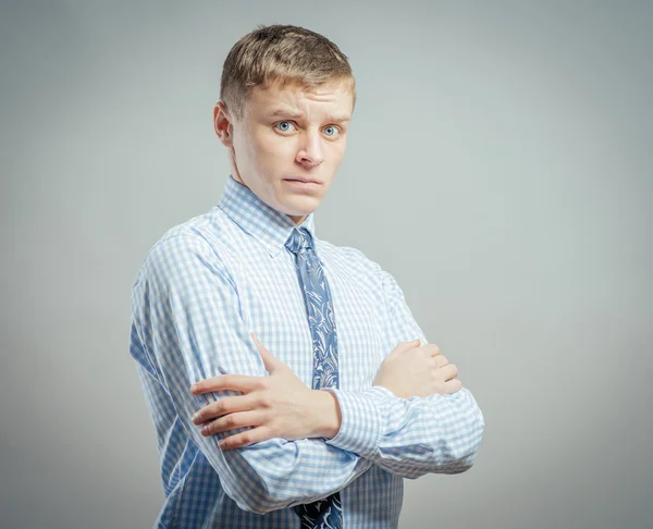
<path id="1" fill-rule="evenodd" d="M 239 427 L 246 432 L 220 441 L 222 450 L 233 450 L 272 438 L 288 441 L 306 438 L 333 439 L 340 430 L 337 399 L 328 391 L 310 390 L 288 366 L 275 358 L 256 337 L 269 377 L 223 374 L 205 379 L 190 387 L 195 395 L 235 390 L 242 396 L 221 398 L 193 416 L 201 434 L 214 435 Z M 419 340 L 401 342 L 384 359 L 374 385 L 382 385 L 402 398 L 454 393 L 463 386 L 458 369 L 440 354 L 434 344 Z"/>

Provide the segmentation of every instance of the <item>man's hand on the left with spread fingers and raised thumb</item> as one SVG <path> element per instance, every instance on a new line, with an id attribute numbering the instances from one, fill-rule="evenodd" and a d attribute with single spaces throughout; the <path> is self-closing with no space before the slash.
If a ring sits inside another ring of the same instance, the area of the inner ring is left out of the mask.
<path id="1" fill-rule="evenodd" d="M 254 427 L 220 441 L 222 450 L 239 448 L 272 438 L 288 441 L 305 438 L 335 436 L 341 417 L 337 399 L 326 391 L 307 387 L 292 369 L 272 355 L 251 333 L 270 377 L 221 374 L 206 379 L 190 389 L 195 395 L 235 390 L 238 396 L 221 398 L 193 416 L 204 425 L 202 435 L 213 435 L 235 428 Z M 210 419 L 211 422 L 206 423 Z"/>

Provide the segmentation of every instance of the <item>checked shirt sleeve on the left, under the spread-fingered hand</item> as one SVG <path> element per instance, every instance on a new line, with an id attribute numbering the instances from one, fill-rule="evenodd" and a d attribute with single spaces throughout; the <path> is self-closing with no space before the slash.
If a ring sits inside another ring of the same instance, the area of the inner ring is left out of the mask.
<path id="1" fill-rule="evenodd" d="M 342 490 L 370 468 L 369 460 L 322 439 L 272 439 L 222 451 L 218 441 L 233 430 L 199 433 L 193 414 L 239 393 L 194 395 L 193 383 L 224 373 L 268 376 L 242 318 L 236 286 L 199 234 L 169 236 L 150 250 L 132 291 L 132 318 L 140 342 L 136 360 L 165 389 L 187 435 L 241 508 L 264 514 L 312 502 Z M 380 422 L 370 421 L 366 434 L 378 438 Z"/>

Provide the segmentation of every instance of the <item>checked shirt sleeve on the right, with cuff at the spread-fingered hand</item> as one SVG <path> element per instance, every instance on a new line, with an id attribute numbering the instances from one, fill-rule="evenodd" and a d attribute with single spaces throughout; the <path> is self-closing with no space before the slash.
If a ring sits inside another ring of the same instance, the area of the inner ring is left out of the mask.
<path id="1" fill-rule="evenodd" d="M 387 353 L 399 342 L 420 339 L 427 344 L 396 280 L 380 267 L 378 272 L 386 307 Z M 410 479 L 429 472 L 459 473 L 476 459 L 485 423 L 466 387 L 453 394 L 408 399 L 382 386 L 359 393 L 328 391 L 338 399 L 342 427 L 326 443 L 345 450 L 362 444 L 364 450 L 354 451 L 391 473 Z M 368 431 L 378 417 L 381 435 L 372 445 L 358 432 Z"/>

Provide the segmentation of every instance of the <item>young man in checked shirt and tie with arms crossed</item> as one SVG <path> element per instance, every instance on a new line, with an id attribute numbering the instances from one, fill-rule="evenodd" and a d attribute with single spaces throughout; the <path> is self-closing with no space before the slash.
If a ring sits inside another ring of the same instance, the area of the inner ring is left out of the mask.
<path id="1" fill-rule="evenodd" d="M 403 478 L 476 458 L 481 411 L 396 281 L 316 235 L 354 102 L 346 57 L 307 29 L 261 27 L 226 58 L 224 194 L 161 237 L 132 293 L 156 527 L 397 527 Z"/>

